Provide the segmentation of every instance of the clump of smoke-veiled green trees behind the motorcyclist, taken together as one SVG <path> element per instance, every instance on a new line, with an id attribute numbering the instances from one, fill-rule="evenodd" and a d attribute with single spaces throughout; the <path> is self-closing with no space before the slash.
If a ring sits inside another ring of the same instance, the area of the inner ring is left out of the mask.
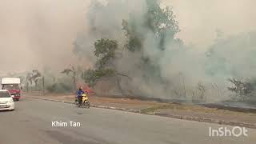
<path id="1" fill-rule="evenodd" d="M 126 50 L 141 55 L 138 69 L 142 70 L 145 81 L 149 79 L 154 79 L 155 82 L 165 81 L 164 78 L 161 78 L 159 66 L 145 54 L 144 43 L 150 33 L 153 34 L 156 42 L 155 48 L 165 50 L 166 41 L 176 41 L 174 35 L 179 31 L 178 22 L 175 20 L 173 11 L 169 7 L 161 8 L 157 0 L 146 0 L 146 6 L 146 14 L 137 16 L 136 13 L 131 13 L 127 20 L 122 20 L 126 43 L 118 46 L 118 43 L 122 42 L 107 38 L 101 38 L 94 42 L 94 56 L 97 58 L 97 62 L 94 69 L 86 70 L 82 74 L 82 78 L 89 86 L 93 87 L 100 80 L 116 77 L 114 79 L 118 81 L 118 87 L 122 89 L 118 76 L 129 79 L 130 76 L 118 73 L 114 62 L 118 61 L 117 51 L 122 51 L 122 55 L 125 55 L 128 54 Z"/>

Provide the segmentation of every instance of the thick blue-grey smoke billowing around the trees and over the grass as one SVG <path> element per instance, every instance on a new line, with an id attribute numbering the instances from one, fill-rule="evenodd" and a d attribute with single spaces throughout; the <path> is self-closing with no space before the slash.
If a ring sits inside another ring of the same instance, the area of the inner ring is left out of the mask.
<path id="1" fill-rule="evenodd" d="M 164 43 L 166 50 L 162 51 L 156 48 L 158 42 L 154 41 L 154 35 L 140 23 L 146 9 L 146 1 L 110 0 L 105 4 L 94 1 L 86 17 L 88 31 L 83 37 L 78 37 L 74 51 L 78 54 L 81 51 L 90 51 L 90 54 L 93 54 L 93 43 L 97 39 L 118 40 L 122 58 L 115 62 L 116 69 L 132 78 L 122 78 L 121 86 L 126 92 L 154 98 L 193 98 L 194 95 L 203 95 L 206 101 L 212 102 L 228 98 L 230 95 L 226 89 L 229 86 L 227 78 L 246 78 L 248 73 L 251 77 L 255 76 L 250 72 L 250 67 L 254 67 L 251 51 L 255 48 L 252 43 L 254 33 L 227 38 L 215 37 L 214 42 L 203 50 L 196 46 L 184 45 L 176 35 L 173 40 L 170 38 Z M 148 79 L 143 78 L 146 68 L 138 67 L 141 65 L 141 54 L 123 50 L 126 37 L 122 30 L 122 19 L 130 17 L 137 18 L 135 23 L 138 32 L 146 35 L 143 54 L 158 67 L 158 76 L 153 74 Z M 93 55 L 90 57 L 94 58 Z"/>

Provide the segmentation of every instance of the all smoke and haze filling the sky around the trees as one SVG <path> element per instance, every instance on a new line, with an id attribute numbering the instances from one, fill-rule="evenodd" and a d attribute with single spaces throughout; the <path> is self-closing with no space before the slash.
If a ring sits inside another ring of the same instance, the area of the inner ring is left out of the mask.
<path id="1" fill-rule="evenodd" d="M 181 30 L 164 42 L 165 50 L 155 48 L 158 42 L 140 23 L 147 10 L 145 0 L 2 0 L 1 71 L 59 71 L 77 62 L 92 67 L 94 42 L 110 38 L 118 41 L 122 52 L 114 62 L 116 69 L 132 77 L 122 78 L 121 86 L 134 94 L 191 98 L 202 93 L 203 85 L 204 95 L 212 101 L 228 95 L 227 78 L 255 77 L 253 0 L 160 2 L 162 7 L 172 6 Z M 145 74 L 152 69 L 142 67 L 142 54 L 123 48 L 127 38 L 122 20 L 131 17 L 137 18 L 138 32 L 146 35 L 143 54 L 159 70 L 156 74 Z M 221 38 L 216 30 L 222 31 Z"/>

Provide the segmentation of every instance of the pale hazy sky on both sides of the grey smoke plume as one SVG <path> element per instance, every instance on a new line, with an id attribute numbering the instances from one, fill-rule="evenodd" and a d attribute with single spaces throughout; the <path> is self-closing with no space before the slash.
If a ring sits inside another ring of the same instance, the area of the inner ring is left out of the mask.
<path id="1" fill-rule="evenodd" d="M 163 0 L 173 6 L 187 44 L 208 46 L 216 29 L 238 34 L 256 29 L 254 0 Z M 86 27 L 89 0 L 1 0 L 0 71 L 75 61 L 72 43 Z"/>

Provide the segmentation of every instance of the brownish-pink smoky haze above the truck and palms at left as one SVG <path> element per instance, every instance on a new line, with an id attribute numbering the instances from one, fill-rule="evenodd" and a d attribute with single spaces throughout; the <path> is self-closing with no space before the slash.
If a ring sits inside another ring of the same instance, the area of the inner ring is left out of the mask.
<path id="1" fill-rule="evenodd" d="M 62 69 L 78 62 L 73 42 L 85 26 L 82 0 L 2 0 L 0 2 L 1 72 Z"/>

